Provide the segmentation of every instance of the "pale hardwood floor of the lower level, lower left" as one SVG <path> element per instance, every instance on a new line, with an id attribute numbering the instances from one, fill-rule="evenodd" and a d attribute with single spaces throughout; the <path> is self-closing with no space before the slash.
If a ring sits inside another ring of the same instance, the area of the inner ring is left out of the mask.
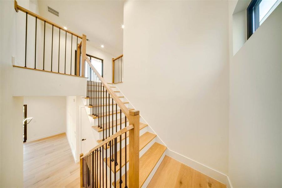
<path id="1" fill-rule="evenodd" d="M 23 144 L 24 187 L 79 187 L 79 177 L 65 134 Z"/>

